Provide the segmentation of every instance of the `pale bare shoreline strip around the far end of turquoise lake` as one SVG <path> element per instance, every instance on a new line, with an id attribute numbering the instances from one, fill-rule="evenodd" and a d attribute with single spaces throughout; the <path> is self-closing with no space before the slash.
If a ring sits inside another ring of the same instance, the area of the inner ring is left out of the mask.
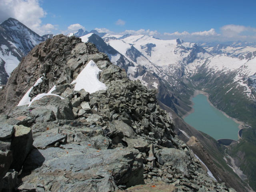
<path id="1" fill-rule="evenodd" d="M 191 96 L 189 100 L 192 102 L 192 98 L 196 97 L 198 94 L 203 94 L 203 95 L 205 95 L 205 96 L 207 97 L 208 103 L 209 103 L 212 107 L 216 108 L 216 107 L 210 102 L 210 100 L 209 100 L 209 94 L 206 93 L 206 92 L 204 92 L 203 90 L 195 90 L 195 91 L 194 91 L 194 95 Z M 189 112 L 187 112 L 186 114 L 184 114 L 184 115 L 182 116 L 182 119 L 184 119 L 186 116 L 188 116 L 188 115 L 190 115 L 191 113 L 194 112 L 193 106 L 194 106 L 194 103 L 192 102 L 192 104 L 190 105 L 190 107 L 192 107 L 192 109 L 191 109 Z M 228 114 L 226 114 L 226 113 L 223 112 L 222 110 L 219 110 L 218 108 L 216 108 L 216 109 L 217 109 L 218 111 L 222 112 L 222 114 L 224 114 L 224 116 L 226 116 L 227 118 L 230 118 L 230 119 L 232 119 L 234 122 L 236 122 L 237 124 L 239 124 L 239 126 L 238 126 L 238 129 L 239 129 L 239 130 L 242 129 L 242 128 L 244 128 L 244 127 L 246 126 L 246 125 L 244 124 L 244 122 L 241 122 L 241 121 L 237 120 L 236 118 L 230 117 Z"/>

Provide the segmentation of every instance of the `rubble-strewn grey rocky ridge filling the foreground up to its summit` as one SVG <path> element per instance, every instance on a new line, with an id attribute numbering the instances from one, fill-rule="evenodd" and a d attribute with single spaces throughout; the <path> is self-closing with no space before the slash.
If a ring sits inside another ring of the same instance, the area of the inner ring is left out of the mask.
<path id="1" fill-rule="evenodd" d="M 72 82 L 91 60 L 107 88 L 76 91 Z M 48 94 L 17 106 L 26 93 L 30 100 Z M 210 177 L 178 139 L 155 89 L 130 81 L 74 36 L 36 46 L 0 99 L 2 191 L 235 191 Z"/>

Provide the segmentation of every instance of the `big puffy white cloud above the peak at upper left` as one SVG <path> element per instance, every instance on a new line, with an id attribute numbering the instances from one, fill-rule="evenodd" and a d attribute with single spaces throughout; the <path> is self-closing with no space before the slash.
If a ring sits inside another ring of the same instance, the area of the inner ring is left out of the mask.
<path id="1" fill-rule="evenodd" d="M 12 17 L 35 32 L 40 28 L 42 22 L 40 18 L 46 16 L 38 0 L 1 0 L 0 12 L 0 22 Z"/>

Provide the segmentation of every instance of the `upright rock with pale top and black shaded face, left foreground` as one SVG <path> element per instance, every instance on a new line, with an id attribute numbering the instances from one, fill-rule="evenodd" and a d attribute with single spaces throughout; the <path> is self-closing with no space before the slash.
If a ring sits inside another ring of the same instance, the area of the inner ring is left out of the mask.
<path id="1" fill-rule="evenodd" d="M 20 171 L 22 164 L 30 152 L 33 144 L 32 131 L 23 125 L 14 126 L 15 133 L 12 138 L 11 150 L 13 152 L 13 162 L 11 168 Z"/>

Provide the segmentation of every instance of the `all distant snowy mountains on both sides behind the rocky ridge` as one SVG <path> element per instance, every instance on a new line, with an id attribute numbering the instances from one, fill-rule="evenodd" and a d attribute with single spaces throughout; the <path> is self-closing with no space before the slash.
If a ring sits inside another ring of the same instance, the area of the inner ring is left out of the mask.
<path id="1" fill-rule="evenodd" d="M 173 110 L 180 117 L 192 109 L 190 98 L 194 91 L 203 90 L 218 109 L 248 127 L 256 127 L 254 43 L 197 44 L 180 39 L 160 40 L 147 35 L 112 35 L 82 29 L 66 36 L 80 37 L 83 42 L 95 44 L 113 64 L 126 70 L 131 80 L 157 88 L 162 108 Z M 39 36 L 13 18 L 0 24 L 0 84 L 6 84 L 12 70 L 34 46 L 52 37 L 53 34 Z M 254 144 L 251 146 L 256 149 Z M 237 157 L 239 152 L 233 155 L 240 164 L 252 163 L 242 162 Z M 245 174 L 250 180 L 254 179 L 250 178 L 250 170 Z"/>

